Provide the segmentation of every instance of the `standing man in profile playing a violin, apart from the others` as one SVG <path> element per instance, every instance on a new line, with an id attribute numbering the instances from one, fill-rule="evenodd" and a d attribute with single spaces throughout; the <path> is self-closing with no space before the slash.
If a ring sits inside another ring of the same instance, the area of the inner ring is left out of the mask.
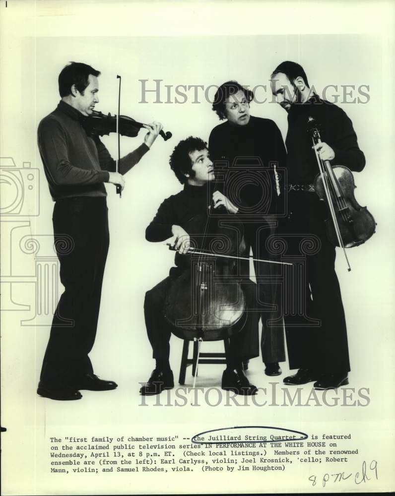
<path id="1" fill-rule="evenodd" d="M 55 311 L 37 393 L 76 400 L 79 389 L 115 389 L 93 373 L 88 353 L 95 341 L 104 267 L 109 246 L 106 188 L 125 186 L 126 174 L 149 150 L 161 124 L 145 126 L 144 143 L 115 161 L 98 136 L 83 128 L 93 113 L 100 72 L 71 62 L 59 74 L 58 107 L 38 127 L 38 147 L 52 199 L 55 247 L 65 287 Z M 65 246 L 67 248 L 65 249 Z"/>

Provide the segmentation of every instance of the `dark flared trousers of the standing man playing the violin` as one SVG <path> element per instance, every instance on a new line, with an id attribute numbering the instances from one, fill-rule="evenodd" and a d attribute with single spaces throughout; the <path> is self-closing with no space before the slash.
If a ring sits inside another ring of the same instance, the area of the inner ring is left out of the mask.
<path id="1" fill-rule="evenodd" d="M 109 247 L 106 198 L 58 200 L 52 220 L 65 291 L 52 321 L 40 379 L 67 383 L 93 373 L 88 353 L 96 336 Z"/>

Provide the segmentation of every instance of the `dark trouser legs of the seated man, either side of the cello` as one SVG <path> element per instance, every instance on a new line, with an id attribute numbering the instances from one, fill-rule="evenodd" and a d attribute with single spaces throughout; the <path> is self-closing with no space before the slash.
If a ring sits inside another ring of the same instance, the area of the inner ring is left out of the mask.
<path id="1" fill-rule="evenodd" d="M 169 360 L 171 326 L 163 316 L 166 295 L 173 283 L 173 277 L 166 277 L 145 293 L 144 316 L 153 358 Z M 242 283 L 248 311 L 243 329 L 230 338 L 231 360 L 241 362 L 259 356 L 259 312 L 256 309 L 256 285 L 252 281 Z"/>

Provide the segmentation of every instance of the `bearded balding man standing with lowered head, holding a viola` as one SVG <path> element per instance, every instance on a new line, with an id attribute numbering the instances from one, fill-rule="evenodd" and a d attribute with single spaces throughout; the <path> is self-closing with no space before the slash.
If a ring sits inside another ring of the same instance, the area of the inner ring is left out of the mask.
<path id="1" fill-rule="evenodd" d="M 295 255 L 300 254 L 302 238 L 309 238 L 310 247 L 304 251 L 306 280 L 302 291 L 306 321 L 316 322 L 315 326 L 298 325 L 289 314 L 285 315 L 289 366 L 299 370 L 286 377 L 284 383 L 316 381 L 316 389 L 333 389 L 348 384 L 350 363 L 343 304 L 334 270 L 335 248 L 326 235 L 323 202 L 313 187 L 318 164 L 308 134 L 309 117 L 321 125 L 323 142 L 315 148 L 323 160 L 362 171 L 365 157 L 350 119 L 339 107 L 312 92 L 298 63 L 282 62 L 273 71 L 270 84 L 277 103 L 288 112 L 285 144 L 289 208 L 281 231 L 288 240 L 288 252 Z M 312 243 L 316 244 L 314 248 Z"/>

